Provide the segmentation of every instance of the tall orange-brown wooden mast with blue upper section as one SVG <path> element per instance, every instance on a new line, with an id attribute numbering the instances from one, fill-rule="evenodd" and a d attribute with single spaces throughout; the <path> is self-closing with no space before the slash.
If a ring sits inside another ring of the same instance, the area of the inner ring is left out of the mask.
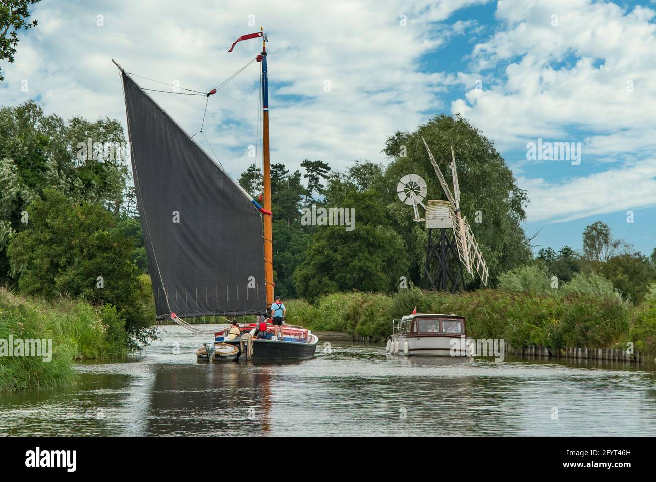
<path id="1" fill-rule="evenodd" d="M 264 31 L 264 27 L 260 27 Z M 266 37 L 262 41 L 262 148 L 264 150 L 264 209 L 271 212 L 271 158 L 269 154 L 269 83 L 266 67 Z M 274 233 L 272 214 L 264 214 L 264 277 L 266 308 L 274 302 Z"/>

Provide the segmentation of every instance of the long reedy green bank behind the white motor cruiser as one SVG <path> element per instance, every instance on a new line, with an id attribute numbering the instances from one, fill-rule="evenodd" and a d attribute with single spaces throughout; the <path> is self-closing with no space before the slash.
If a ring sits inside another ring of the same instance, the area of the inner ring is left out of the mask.
<path id="1" fill-rule="evenodd" d="M 623 348 L 656 354 L 656 290 L 639 306 L 617 298 L 586 294 L 545 296 L 479 290 L 461 294 L 409 289 L 392 296 L 372 293 L 331 294 L 317 304 L 289 300 L 287 323 L 317 331 L 344 331 L 384 340 L 392 319 L 411 313 L 457 313 L 475 338 L 504 338 L 512 346 Z"/>

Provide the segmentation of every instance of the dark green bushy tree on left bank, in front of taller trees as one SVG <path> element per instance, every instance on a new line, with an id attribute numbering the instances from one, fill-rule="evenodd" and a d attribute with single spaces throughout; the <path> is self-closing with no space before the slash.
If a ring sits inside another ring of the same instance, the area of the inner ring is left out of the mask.
<path id="1" fill-rule="evenodd" d="M 43 191 L 28 207 L 28 227 L 12 235 L 7 252 L 20 291 L 45 298 L 73 296 L 112 304 L 138 340 L 151 334 L 141 301 L 136 240 L 103 207 Z"/>

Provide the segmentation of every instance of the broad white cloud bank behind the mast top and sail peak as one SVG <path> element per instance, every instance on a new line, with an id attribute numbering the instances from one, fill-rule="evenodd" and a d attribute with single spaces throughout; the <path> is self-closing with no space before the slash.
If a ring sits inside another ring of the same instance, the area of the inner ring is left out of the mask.
<path id="1" fill-rule="evenodd" d="M 306 158 L 337 169 L 353 159 L 382 161 L 387 136 L 415 129 L 426 112 L 446 108 L 436 92 L 455 77 L 418 68 L 419 58 L 447 37 L 449 26 L 432 22 L 484 1 L 43 1 L 33 11 L 39 26 L 22 36 L 16 63 L 3 67 L 7 89 L 0 90 L 0 102 L 15 105 L 38 95 L 45 110 L 64 118 L 108 115 L 123 121 L 111 58 L 127 71 L 207 91 L 261 50 L 254 39 L 226 53 L 239 35 L 261 24 L 270 39 L 272 161 L 291 169 Z M 248 25 L 251 14 L 256 26 Z M 401 14 L 407 26 L 400 26 Z M 102 27 L 96 26 L 98 15 Z M 234 175 L 253 162 L 247 148 L 255 144 L 258 70 L 252 64 L 209 102 L 204 131 Z M 21 79 L 30 81 L 28 93 L 20 91 Z M 324 92 L 326 80 L 331 92 Z M 283 94 L 303 101 L 290 102 Z M 200 128 L 205 98 L 152 96 L 188 132 Z M 207 150 L 202 138 L 199 143 Z"/>

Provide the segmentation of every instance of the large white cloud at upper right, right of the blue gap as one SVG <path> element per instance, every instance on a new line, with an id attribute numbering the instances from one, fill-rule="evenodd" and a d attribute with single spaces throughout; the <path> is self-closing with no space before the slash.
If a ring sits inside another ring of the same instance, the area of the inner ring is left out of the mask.
<path id="1" fill-rule="evenodd" d="M 552 14 L 558 26 L 551 26 Z M 583 141 L 590 148 L 625 151 L 598 136 L 628 130 L 641 146 L 656 145 L 656 12 L 586 0 L 499 1 L 505 28 L 474 47 L 472 70 L 495 68 L 489 89 L 470 90 L 453 102 L 501 149 L 527 139 Z M 567 65 L 572 62 L 572 65 Z M 497 70 L 504 73 L 496 77 Z M 632 82 L 633 90 L 627 89 Z M 499 113 L 503 112 L 500 116 Z M 572 129 L 575 127 L 576 129 Z"/>

